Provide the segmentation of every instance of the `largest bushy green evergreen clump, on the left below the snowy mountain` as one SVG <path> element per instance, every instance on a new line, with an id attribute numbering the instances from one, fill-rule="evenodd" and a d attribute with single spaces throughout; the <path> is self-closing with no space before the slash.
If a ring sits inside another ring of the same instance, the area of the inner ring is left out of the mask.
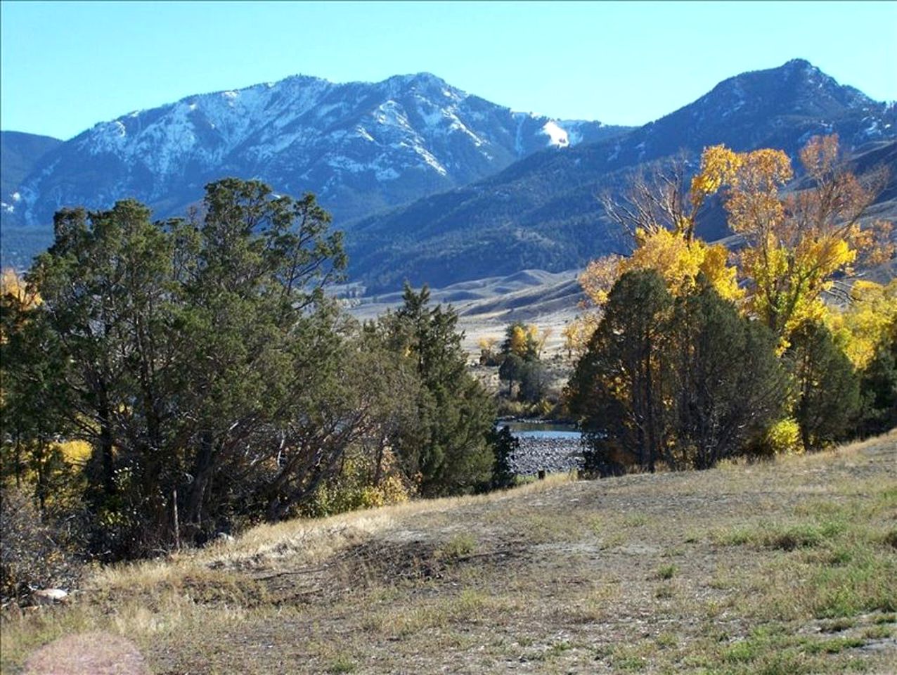
<path id="1" fill-rule="evenodd" d="M 94 448 L 94 513 L 120 534 L 104 550 L 168 546 L 176 495 L 187 540 L 283 517 L 362 433 L 363 378 L 323 294 L 344 266 L 328 225 L 314 197 L 236 179 L 206 186 L 201 220 L 152 223 L 134 200 L 57 214 L 28 279 L 69 434 Z"/>

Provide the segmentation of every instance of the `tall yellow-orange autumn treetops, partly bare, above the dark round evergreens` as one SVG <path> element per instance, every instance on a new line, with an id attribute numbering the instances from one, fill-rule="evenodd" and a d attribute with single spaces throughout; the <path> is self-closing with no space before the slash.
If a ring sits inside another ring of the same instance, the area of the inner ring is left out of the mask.
<path id="1" fill-rule="evenodd" d="M 579 277 L 589 299 L 600 306 L 618 276 L 654 269 L 674 295 L 687 293 L 699 274 L 727 299 L 738 300 L 746 291 L 745 311 L 777 333 L 782 345 L 802 321 L 823 319 L 828 311 L 823 293 L 835 276 L 852 274 L 858 263 L 893 258 L 892 225 L 861 226 L 884 174 L 858 180 L 841 161 L 837 136 L 811 138 L 799 154 L 806 178 L 789 193 L 784 188 L 794 177 L 791 161 L 770 148 L 749 153 L 724 145 L 706 148 L 687 198 L 674 194 L 683 188 L 682 181 L 673 180 L 681 173 L 660 176 L 657 182 L 665 189 L 659 191 L 650 191 L 646 180 L 637 182 L 629 204 L 607 209 L 632 233 L 635 250 L 628 259 L 589 263 Z M 693 236 L 698 209 L 722 191 L 729 227 L 745 241 L 738 269 L 727 264 L 722 246 Z"/>

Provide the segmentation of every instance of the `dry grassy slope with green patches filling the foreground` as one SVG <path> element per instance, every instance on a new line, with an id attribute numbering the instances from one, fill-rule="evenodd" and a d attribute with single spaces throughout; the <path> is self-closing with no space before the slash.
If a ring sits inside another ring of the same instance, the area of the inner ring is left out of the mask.
<path id="1" fill-rule="evenodd" d="M 4 614 L 3 671 L 894 672 L 895 457 L 892 433 L 260 527 Z"/>

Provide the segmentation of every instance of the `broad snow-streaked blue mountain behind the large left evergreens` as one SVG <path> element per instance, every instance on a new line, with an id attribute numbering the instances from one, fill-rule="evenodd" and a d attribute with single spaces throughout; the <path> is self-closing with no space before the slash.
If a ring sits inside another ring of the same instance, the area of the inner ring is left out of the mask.
<path id="1" fill-rule="evenodd" d="M 619 130 L 512 112 L 426 73 L 346 84 L 297 75 L 97 124 L 42 158 L 16 189 L 13 215 L 47 225 L 60 206 L 123 197 L 178 214 L 205 183 L 232 175 L 314 192 L 342 227 Z"/>

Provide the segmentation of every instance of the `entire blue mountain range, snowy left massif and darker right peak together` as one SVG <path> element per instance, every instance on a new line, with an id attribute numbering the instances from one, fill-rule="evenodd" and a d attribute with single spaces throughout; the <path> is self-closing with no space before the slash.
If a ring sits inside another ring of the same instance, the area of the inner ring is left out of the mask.
<path id="1" fill-rule="evenodd" d="M 4 213 L 4 239 L 20 237 L 23 249 L 37 250 L 32 240 L 41 236 L 45 246 L 48 218 L 63 203 L 111 206 L 135 196 L 156 217 L 183 213 L 212 174 L 239 175 L 279 192 L 316 192 L 346 231 L 350 276 L 371 292 L 405 279 L 442 286 L 524 268 L 557 272 L 621 250 L 597 193 L 619 191 L 633 172 L 674 154 L 692 168 L 702 148 L 717 143 L 794 156 L 810 136 L 838 133 L 863 162 L 878 157 L 892 166 L 893 150 L 867 151 L 893 143 L 895 129 L 893 103 L 873 101 L 804 59 L 729 77 L 637 128 L 515 112 L 429 73 L 343 84 L 292 75 L 136 110 L 57 146 L 25 180 L 26 208 Z M 179 143 L 182 137 L 189 143 Z M 196 144 L 205 154 L 191 164 L 181 155 Z M 77 152 L 62 156 L 73 147 Z M 137 155 L 154 165 L 127 166 L 123 158 Z M 74 171 L 59 169 L 64 160 Z M 127 180 L 91 188 L 104 174 L 137 182 L 146 174 L 151 188 L 128 191 Z M 65 194 L 77 193 L 73 185 L 85 198 L 65 202 Z M 721 210 L 701 228 L 711 239 L 724 236 Z"/>

